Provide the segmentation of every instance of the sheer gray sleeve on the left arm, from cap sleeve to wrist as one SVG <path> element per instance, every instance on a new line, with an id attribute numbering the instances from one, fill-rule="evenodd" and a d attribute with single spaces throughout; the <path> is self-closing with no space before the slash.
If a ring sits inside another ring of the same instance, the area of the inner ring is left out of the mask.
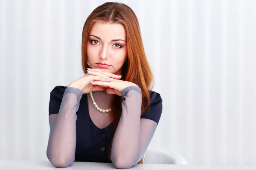
<path id="1" fill-rule="evenodd" d="M 47 158 L 55 167 L 68 167 L 75 160 L 76 112 L 83 92 L 66 88 L 58 114 L 49 115 Z"/>

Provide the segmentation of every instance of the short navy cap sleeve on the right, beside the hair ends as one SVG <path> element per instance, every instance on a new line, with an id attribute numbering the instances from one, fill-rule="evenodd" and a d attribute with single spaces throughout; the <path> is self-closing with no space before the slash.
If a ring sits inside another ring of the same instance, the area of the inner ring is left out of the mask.
<path id="1" fill-rule="evenodd" d="M 159 93 L 155 91 L 150 92 L 150 102 L 148 108 L 143 112 L 141 118 L 151 119 L 159 122 L 163 110 L 163 100 Z"/>

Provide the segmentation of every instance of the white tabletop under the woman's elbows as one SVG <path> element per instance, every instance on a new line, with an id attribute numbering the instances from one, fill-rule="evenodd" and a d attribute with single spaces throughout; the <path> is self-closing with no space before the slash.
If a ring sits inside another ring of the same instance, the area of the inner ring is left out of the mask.
<path id="1" fill-rule="evenodd" d="M 53 170 L 49 161 L 0 159 L 0 170 Z M 116 170 L 110 163 L 73 162 L 65 170 Z M 137 164 L 131 170 L 256 170 L 256 166 L 204 166 L 174 164 Z"/>

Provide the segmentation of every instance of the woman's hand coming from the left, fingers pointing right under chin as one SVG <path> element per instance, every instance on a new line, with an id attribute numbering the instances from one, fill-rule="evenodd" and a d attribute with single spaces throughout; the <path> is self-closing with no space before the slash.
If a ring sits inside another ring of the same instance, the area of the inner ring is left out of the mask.
<path id="1" fill-rule="evenodd" d="M 85 74 L 83 77 L 76 79 L 67 87 L 79 88 L 83 91 L 84 94 L 90 93 L 91 91 L 105 91 L 105 87 L 101 87 L 99 85 L 92 85 L 90 82 L 93 81 L 103 81 L 103 82 L 111 82 L 113 79 L 120 79 L 116 78 L 115 74 L 109 73 L 108 75 L 98 73 L 97 75 L 90 75 Z"/>

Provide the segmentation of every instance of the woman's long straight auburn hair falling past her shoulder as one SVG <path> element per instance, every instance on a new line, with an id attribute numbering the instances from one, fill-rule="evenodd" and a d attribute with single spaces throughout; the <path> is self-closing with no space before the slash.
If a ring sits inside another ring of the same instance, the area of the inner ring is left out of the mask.
<path id="1" fill-rule="evenodd" d="M 108 2 L 93 10 L 85 21 L 82 32 L 81 57 L 84 74 L 87 74 L 87 68 L 89 67 L 86 54 L 87 42 L 93 25 L 96 22 L 119 23 L 124 26 L 128 57 L 122 67 L 122 80 L 133 82 L 140 87 L 142 93 L 142 114 L 150 103 L 150 92 L 154 85 L 154 77 L 145 55 L 137 17 L 134 11 L 123 3 Z M 111 111 L 115 113 L 115 118 L 112 122 L 115 131 L 122 113 L 123 100 L 121 96 L 115 95 L 111 101 Z M 109 162 L 111 162 L 112 142 L 113 139 L 108 150 Z M 138 163 L 143 163 L 143 159 Z"/>

